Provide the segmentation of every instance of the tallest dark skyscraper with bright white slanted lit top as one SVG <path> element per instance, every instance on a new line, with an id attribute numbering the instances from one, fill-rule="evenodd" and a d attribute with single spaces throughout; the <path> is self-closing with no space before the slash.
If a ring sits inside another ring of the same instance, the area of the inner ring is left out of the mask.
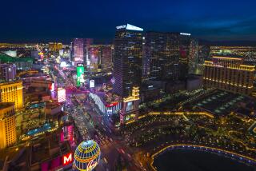
<path id="1" fill-rule="evenodd" d="M 142 82 L 142 28 L 117 26 L 114 39 L 114 93 L 130 95 Z"/>

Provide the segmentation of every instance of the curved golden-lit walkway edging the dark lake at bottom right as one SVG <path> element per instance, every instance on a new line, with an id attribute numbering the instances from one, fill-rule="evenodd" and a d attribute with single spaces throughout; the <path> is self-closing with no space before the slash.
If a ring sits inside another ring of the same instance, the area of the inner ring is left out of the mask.
<path id="1" fill-rule="evenodd" d="M 234 153 L 231 151 L 227 151 L 225 149 L 218 149 L 218 148 L 214 148 L 214 147 L 207 147 L 204 145 L 189 145 L 189 144 L 176 144 L 176 145 L 168 145 L 163 149 L 160 149 L 157 153 L 154 153 L 151 156 L 151 162 L 150 162 L 150 166 L 153 170 L 157 170 L 154 168 L 154 158 L 158 157 L 159 154 L 165 152 L 166 150 L 172 150 L 172 149 L 198 149 L 198 150 L 203 150 L 206 152 L 210 152 L 210 153 L 219 153 L 222 154 L 225 157 L 230 157 L 232 159 L 238 160 L 238 161 L 243 161 L 245 163 L 248 163 L 250 165 L 256 165 L 256 159 L 251 158 L 251 157 L 246 157 L 242 154 L 239 153 Z"/>

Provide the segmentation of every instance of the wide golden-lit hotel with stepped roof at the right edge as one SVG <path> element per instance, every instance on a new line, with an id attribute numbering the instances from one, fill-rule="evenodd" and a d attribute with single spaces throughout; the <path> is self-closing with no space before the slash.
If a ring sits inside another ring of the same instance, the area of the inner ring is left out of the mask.
<path id="1" fill-rule="evenodd" d="M 213 57 L 205 61 L 203 86 L 233 93 L 250 94 L 253 90 L 255 66 L 242 65 L 242 58 Z"/>

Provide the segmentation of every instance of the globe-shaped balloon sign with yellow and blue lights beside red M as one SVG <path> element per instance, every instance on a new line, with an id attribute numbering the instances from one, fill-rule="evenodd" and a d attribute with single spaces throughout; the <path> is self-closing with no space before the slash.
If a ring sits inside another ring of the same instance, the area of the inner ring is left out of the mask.
<path id="1" fill-rule="evenodd" d="M 74 165 L 78 170 L 93 170 L 101 158 L 101 150 L 93 140 L 82 141 L 74 152 Z"/>

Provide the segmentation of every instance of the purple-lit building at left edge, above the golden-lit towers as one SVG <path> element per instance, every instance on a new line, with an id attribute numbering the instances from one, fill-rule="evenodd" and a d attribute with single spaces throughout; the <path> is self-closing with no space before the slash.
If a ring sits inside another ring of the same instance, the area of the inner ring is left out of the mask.
<path id="1" fill-rule="evenodd" d="M 14 81 L 16 77 L 16 66 L 14 64 L 0 64 L 0 82 Z"/>

